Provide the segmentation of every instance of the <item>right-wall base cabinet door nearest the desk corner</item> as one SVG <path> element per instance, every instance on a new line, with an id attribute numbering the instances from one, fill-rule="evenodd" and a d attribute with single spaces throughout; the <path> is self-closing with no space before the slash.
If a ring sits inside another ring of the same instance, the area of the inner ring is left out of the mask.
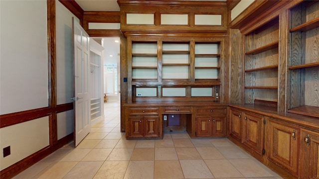
<path id="1" fill-rule="evenodd" d="M 241 111 L 230 109 L 230 135 L 241 142 L 242 137 L 242 123 Z"/>

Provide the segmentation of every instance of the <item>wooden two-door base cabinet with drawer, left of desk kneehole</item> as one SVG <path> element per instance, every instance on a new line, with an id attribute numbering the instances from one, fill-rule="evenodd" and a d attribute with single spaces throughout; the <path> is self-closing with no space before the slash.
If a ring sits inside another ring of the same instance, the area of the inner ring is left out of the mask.
<path id="1" fill-rule="evenodd" d="M 158 108 L 129 108 L 127 138 L 159 137 Z"/>

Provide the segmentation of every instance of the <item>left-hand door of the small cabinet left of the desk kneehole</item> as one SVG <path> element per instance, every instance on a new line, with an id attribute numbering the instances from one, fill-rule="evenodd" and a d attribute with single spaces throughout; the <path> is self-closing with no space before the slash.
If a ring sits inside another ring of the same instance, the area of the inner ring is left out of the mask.
<path id="1" fill-rule="evenodd" d="M 144 117 L 131 116 L 130 121 L 130 137 L 143 137 L 144 136 Z"/>

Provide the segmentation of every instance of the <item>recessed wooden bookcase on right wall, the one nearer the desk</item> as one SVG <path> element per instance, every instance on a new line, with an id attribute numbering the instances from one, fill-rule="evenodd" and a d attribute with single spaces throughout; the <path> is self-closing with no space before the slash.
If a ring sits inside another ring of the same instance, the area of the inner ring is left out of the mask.
<path id="1" fill-rule="evenodd" d="M 278 102 L 279 19 L 245 35 L 245 103 Z"/>

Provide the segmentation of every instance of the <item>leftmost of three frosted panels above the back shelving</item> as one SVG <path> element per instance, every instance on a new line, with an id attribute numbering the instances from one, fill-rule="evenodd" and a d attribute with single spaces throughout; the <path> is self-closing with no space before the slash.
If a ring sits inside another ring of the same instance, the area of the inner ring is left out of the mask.
<path id="1" fill-rule="evenodd" d="M 127 24 L 154 24 L 154 14 L 126 14 Z"/>

